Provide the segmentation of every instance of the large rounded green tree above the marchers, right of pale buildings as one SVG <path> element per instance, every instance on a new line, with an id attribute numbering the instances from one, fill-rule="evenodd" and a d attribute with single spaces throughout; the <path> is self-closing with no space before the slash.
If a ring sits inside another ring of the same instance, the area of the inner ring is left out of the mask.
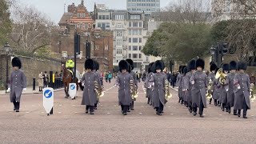
<path id="1" fill-rule="evenodd" d="M 202 57 L 210 49 L 210 26 L 203 23 L 164 22 L 147 40 L 142 52 L 146 55 L 188 62 Z"/>

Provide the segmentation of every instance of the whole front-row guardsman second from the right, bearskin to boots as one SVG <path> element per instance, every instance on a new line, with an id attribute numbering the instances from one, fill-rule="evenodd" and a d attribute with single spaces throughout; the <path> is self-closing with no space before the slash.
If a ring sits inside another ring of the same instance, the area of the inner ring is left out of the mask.
<path id="1" fill-rule="evenodd" d="M 203 108 L 206 108 L 206 88 L 208 86 L 208 78 L 203 69 L 205 67 L 205 62 L 201 58 L 196 61 L 196 71 L 192 74 L 190 82 L 193 85 L 192 94 L 192 107 L 194 116 L 197 115 L 197 110 L 199 107 L 200 117 L 203 118 Z"/>

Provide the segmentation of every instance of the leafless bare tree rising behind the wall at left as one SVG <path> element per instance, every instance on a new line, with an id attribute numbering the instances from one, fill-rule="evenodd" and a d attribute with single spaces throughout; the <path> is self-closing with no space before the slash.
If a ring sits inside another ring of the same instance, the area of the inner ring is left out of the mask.
<path id="1" fill-rule="evenodd" d="M 32 6 L 15 5 L 11 18 L 14 24 L 10 39 L 16 50 L 34 54 L 36 50 L 50 46 L 53 22 L 44 14 Z"/>

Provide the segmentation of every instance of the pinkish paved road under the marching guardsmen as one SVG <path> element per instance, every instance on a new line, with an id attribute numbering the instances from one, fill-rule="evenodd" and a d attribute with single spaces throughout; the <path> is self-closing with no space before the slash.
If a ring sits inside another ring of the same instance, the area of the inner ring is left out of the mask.
<path id="1" fill-rule="evenodd" d="M 106 90 L 114 84 L 105 84 Z M 0 96 L 0 143 L 256 143 L 256 109 L 248 119 L 222 112 L 208 105 L 205 118 L 194 117 L 178 103 L 177 92 L 158 116 L 146 104 L 139 84 L 134 111 L 123 116 L 118 106 L 118 88 L 101 99 L 94 115 L 81 106 L 82 91 L 76 100 L 55 92 L 54 115 L 46 116 L 42 95 L 22 97 L 21 112 L 15 113 L 7 95 Z M 255 116 L 254 116 L 255 114 Z"/>

